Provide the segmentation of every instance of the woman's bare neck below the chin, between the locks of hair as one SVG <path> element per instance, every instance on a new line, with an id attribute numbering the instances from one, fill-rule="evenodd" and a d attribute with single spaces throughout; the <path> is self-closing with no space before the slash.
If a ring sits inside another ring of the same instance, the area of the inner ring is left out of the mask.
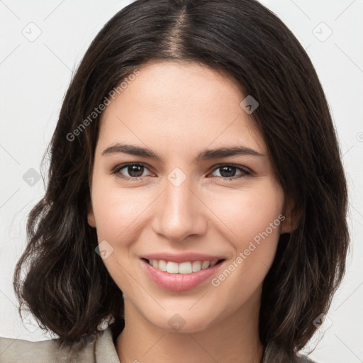
<path id="1" fill-rule="evenodd" d="M 169 332 L 150 324 L 125 300 L 125 328 L 116 350 L 121 363 L 260 363 L 259 301 L 252 296 L 227 318 L 193 333 Z"/>

